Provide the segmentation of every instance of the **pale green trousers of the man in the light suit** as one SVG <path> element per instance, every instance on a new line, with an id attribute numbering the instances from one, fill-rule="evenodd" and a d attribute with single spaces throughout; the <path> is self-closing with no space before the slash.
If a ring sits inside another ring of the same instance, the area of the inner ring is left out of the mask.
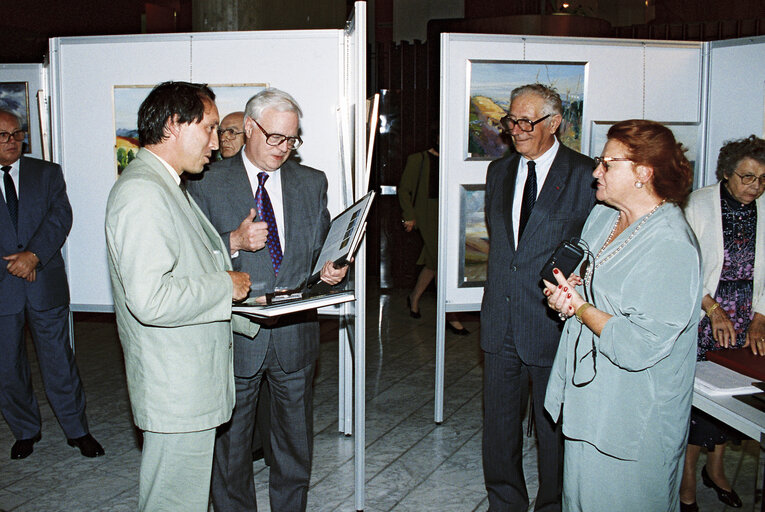
<path id="1" fill-rule="evenodd" d="M 143 433 L 140 512 L 207 512 L 215 429 Z"/>

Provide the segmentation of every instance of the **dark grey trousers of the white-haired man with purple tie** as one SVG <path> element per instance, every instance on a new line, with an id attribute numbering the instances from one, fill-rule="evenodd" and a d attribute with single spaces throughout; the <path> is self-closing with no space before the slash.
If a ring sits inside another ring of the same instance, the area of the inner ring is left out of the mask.
<path id="1" fill-rule="evenodd" d="M 271 391 L 271 510 L 306 509 L 313 454 L 313 373 L 313 363 L 284 372 L 271 341 L 260 370 L 249 378 L 235 377 L 234 413 L 231 421 L 220 427 L 215 441 L 212 499 L 216 512 L 257 510 L 251 447 L 258 391 L 264 378 Z"/>

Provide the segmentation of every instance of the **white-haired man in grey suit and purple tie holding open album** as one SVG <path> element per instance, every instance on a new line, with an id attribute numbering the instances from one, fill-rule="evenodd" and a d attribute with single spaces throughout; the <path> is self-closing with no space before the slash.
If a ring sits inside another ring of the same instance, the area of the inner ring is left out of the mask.
<path id="1" fill-rule="evenodd" d="M 283 91 L 256 94 L 245 108 L 242 151 L 212 164 L 201 180 L 189 183 L 200 208 L 228 245 L 234 268 L 250 274 L 251 297 L 305 284 L 329 228 L 326 176 L 288 160 L 302 143 L 301 115 L 298 104 Z M 321 277 L 334 285 L 346 271 L 347 267 L 335 269 L 327 262 Z M 254 340 L 234 337 L 236 405 L 215 445 L 216 510 L 257 510 L 250 447 L 263 380 L 271 390 L 271 510 L 305 510 L 318 352 L 315 311 L 263 325 Z"/>

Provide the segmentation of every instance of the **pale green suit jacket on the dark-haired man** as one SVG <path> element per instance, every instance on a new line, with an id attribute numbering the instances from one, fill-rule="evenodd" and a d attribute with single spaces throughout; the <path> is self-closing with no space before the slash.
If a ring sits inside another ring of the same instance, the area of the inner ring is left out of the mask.
<path id="1" fill-rule="evenodd" d="M 234 406 L 228 251 L 145 149 L 109 194 L 106 244 L 136 425 L 191 432 L 228 421 Z M 255 335 L 256 324 L 235 319 Z"/>

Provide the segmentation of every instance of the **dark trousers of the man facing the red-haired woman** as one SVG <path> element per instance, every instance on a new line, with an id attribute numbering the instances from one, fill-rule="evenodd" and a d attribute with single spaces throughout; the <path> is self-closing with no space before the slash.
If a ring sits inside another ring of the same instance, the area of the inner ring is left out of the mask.
<path id="1" fill-rule="evenodd" d="M 528 400 L 523 379 L 528 377 L 539 442 L 539 491 L 534 510 L 560 511 L 562 438 L 544 410 L 550 367 L 524 364 L 508 337 L 499 353 L 484 352 L 483 471 L 492 512 L 526 512 L 529 507 L 522 425 Z"/>

